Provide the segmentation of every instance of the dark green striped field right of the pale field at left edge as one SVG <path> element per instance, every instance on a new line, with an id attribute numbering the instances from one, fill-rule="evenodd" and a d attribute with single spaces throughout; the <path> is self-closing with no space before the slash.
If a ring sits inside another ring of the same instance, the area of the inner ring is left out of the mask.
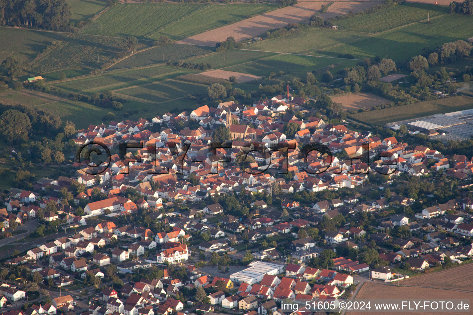
<path id="1" fill-rule="evenodd" d="M 73 34 L 33 65 L 37 73 L 69 68 L 92 70 L 116 57 L 123 50 L 123 40 L 102 36 Z"/>

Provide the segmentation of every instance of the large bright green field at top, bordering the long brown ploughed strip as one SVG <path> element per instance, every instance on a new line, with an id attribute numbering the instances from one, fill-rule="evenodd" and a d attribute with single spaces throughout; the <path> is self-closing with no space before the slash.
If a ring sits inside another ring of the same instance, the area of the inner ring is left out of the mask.
<path id="1" fill-rule="evenodd" d="M 85 27 L 83 32 L 119 37 L 133 35 L 146 39 L 167 35 L 175 40 L 276 8 L 275 5 L 265 3 L 120 3 Z"/>

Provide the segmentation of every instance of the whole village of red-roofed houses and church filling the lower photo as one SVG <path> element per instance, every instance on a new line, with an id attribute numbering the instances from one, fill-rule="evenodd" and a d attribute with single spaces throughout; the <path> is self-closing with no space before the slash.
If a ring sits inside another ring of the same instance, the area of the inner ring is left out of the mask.
<path id="1" fill-rule="evenodd" d="M 282 315 L 472 261 L 472 159 L 303 102 L 79 130 L 82 147 L 134 146 L 5 194 L 2 314 Z"/>

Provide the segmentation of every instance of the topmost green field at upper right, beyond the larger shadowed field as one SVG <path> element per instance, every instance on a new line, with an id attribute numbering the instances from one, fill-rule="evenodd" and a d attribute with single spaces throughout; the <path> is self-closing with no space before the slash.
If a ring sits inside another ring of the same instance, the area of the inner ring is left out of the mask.
<path id="1" fill-rule="evenodd" d="M 435 4 L 404 2 L 403 4 L 382 9 L 375 13 L 359 15 L 336 21 L 335 23 L 346 30 L 377 33 L 427 20 L 428 12 L 430 17 L 436 17 L 448 13 L 449 9 Z"/>

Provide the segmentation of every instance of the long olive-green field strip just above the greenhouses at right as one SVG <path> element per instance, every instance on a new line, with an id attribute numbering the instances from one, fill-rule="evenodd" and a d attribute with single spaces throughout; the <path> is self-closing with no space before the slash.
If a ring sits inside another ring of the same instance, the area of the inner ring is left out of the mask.
<path id="1" fill-rule="evenodd" d="M 473 97 L 461 95 L 434 101 L 384 108 L 377 111 L 356 113 L 349 115 L 349 118 L 368 125 L 384 126 L 385 124 L 394 121 L 413 119 L 451 111 L 462 111 L 472 108 Z"/>

